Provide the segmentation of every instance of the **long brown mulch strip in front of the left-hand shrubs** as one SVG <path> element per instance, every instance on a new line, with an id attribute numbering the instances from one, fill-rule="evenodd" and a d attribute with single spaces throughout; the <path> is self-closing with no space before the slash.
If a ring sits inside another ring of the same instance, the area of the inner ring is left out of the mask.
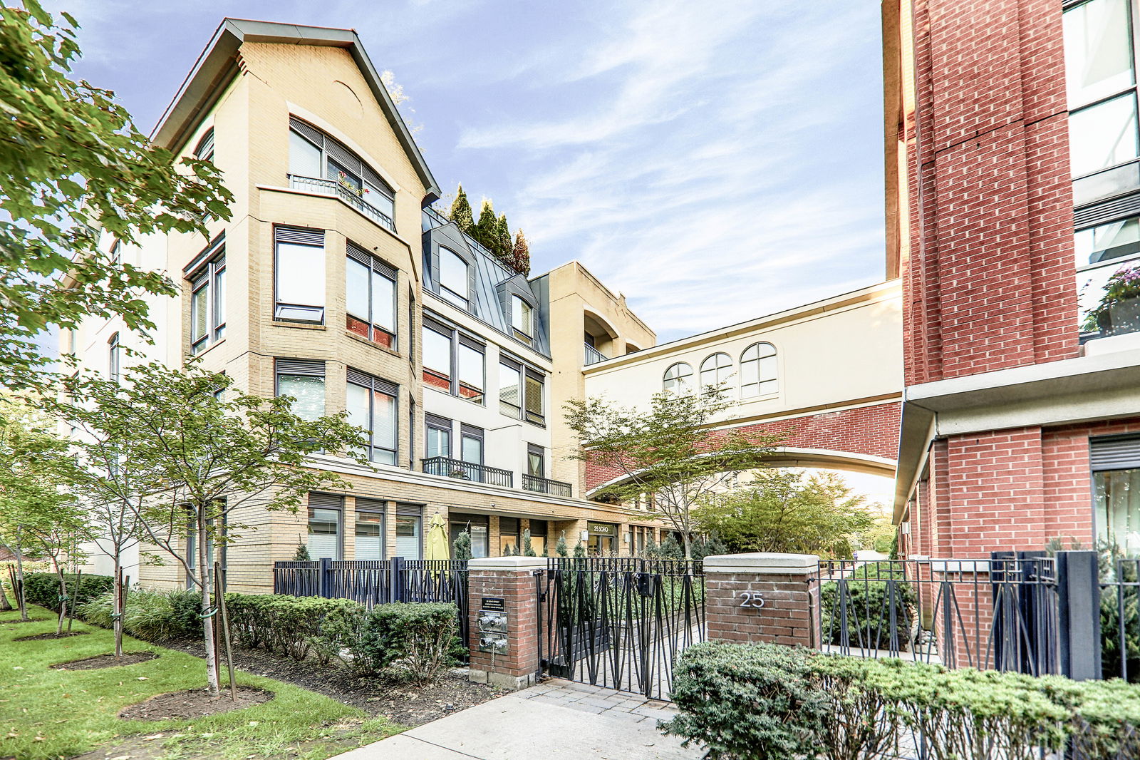
<path id="1" fill-rule="evenodd" d="M 164 646 L 204 656 L 201 641 L 166 642 Z M 470 682 L 466 671 L 458 669 L 435 684 L 420 687 L 378 678 L 353 678 L 339 664 L 320 665 L 311 660 L 296 662 L 260 649 L 235 648 L 234 665 L 250 673 L 324 694 L 360 708 L 369 717 L 384 715 L 404 726 L 420 726 L 505 694 L 492 686 Z"/>

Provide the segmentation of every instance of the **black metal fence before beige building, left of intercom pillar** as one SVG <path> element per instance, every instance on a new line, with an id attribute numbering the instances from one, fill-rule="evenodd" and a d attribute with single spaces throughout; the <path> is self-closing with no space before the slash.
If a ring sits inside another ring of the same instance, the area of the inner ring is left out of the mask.
<path id="1" fill-rule="evenodd" d="M 274 563 L 274 593 L 352 599 L 366 607 L 391 601 L 449 601 L 458 608 L 467 646 L 467 563 L 463 559 L 317 559 Z"/>

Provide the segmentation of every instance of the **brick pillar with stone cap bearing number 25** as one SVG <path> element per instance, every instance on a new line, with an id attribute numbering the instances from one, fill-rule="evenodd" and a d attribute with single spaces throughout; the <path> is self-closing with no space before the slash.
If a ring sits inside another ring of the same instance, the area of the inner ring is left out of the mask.
<path id="1" fill-rule="evenodd" d="M 819 646 L 819 563 L 814 555 L 706 557 L 709 639 Z"/>

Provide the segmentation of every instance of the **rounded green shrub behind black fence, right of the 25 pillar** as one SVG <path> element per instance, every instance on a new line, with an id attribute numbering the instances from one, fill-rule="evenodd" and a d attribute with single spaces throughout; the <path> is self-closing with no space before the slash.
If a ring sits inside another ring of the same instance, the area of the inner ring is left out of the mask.
<path id="1" fill-rule="evenodd" d="M 898 646 L 910 642 L 915 595 L 901 566 L 891 563 L 861 565 L 847 576 L 844 585 L 847 599 L 846 644 L 866 649 L 890 648 L 891 589 Z M 845 644 L 838 582 L 828 581 L 820 589 L 820 611 L 824 639 L 833 645 Z"/>

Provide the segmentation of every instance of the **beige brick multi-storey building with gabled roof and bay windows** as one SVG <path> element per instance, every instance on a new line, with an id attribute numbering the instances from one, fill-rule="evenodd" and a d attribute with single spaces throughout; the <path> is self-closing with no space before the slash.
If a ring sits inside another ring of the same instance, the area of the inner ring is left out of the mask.
<path id="1" fill-rule="evenodd" d="M 429 208 L 440 191 L 356 33 L 226 19 L 153 138 L 212 159 L 233 217 L 209 238 L 120 251 L 181 285 L 152 299 L 154 343 L 92 320 L 62 350 L 108 372 L 141 361 L 124 347 L 171 366 L 197 356 L 299 413 L 347 410 L 372 444 L 368 467 L 312 461 L 351 490 L 238 516 L 252 527 L 225 552 L 231 589 L 270 590 L 301 542 L 314 557 L 420 557 L 437 514 L 471 529 L 477 555 L 528 528 L 539 553 L 591 532 L 628 553 L 629 514 L 581 498 L 562 404 L 598 353 L 646 348 L 653 331 L 579 264 L 528 280 Z M 169 563 L 128 572 L 184 582 Z"/>

